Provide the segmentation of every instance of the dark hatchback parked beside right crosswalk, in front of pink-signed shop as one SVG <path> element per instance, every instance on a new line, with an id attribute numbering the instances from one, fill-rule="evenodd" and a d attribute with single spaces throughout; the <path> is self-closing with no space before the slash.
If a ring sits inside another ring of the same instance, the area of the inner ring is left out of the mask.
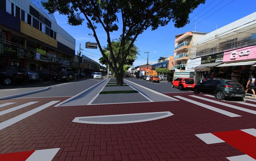
<path id="1" fill-rule="evenodd" d="M 238 98 L 245 97 L 243 86 L 237 81 L 227 79 L 210 79 L 195 85 L 194 93 L 212 93 L 218 100 L 225 98 Z"/>

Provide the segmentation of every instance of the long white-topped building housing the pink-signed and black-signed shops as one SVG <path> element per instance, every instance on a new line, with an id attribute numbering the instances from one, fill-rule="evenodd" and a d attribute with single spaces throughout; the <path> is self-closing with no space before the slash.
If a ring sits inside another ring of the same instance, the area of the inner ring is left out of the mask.
<path id="1" fill-rule="evenodd" d="M 190 50 L 190 59 L 199 59 L 195 81 L 206 74 L 211 78 L 247 81 L 256 75 L 256 12 L 197 39 Z"/>

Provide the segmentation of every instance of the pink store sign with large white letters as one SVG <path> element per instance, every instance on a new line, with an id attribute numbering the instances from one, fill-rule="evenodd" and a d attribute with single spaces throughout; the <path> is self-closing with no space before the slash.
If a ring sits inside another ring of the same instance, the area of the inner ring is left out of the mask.
<path id="1" fill-rule="evenodd" d="M 224 53 L 223 62 L 256 59 L 256 46 L 240 48 Z"/>

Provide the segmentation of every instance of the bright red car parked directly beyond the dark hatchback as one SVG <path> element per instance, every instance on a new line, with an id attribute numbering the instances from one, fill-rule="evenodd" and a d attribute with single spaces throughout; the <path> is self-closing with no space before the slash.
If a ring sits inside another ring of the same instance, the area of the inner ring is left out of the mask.
<path id="1" fill-rule="evenodd" d="M 179 90 L 193 89 L 195 87 L 195 81 L 193 78 L 176 78 L 172 81 L 172 88 L 179 87 Z"/>

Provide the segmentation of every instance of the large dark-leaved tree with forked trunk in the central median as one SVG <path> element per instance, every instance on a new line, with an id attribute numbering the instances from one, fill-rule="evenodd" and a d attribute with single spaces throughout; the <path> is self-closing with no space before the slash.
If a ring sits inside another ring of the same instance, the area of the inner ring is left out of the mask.
<path id="1" fill-rule="evenodd" d="M 189 23 L 189 14 L 201 3 L 205 3 L 205 0 L 47 0 L 42 5 L 49 13 L 58 11 L 67 15 L 70 25 L 82 25 L 85 18 L 102 56 L 120 80 L 118 82 L 123 82 L 123 72 L 120 71 L 138 35 L 149 27 L 156 30 L 159 26 L 165 26 L 171 20 L 175 27 L 183 27 Z M 106 32 L 113 64 L 102 50 L 95 24 L 101 25 Z M 120 31 L 120 48 L 116 56 L 110 40 L 110 33 L 114 31 Z M 130 45 L 125 48 L 127 41 Z M 119 66 L 118 62 L 121 63 Z"/>

